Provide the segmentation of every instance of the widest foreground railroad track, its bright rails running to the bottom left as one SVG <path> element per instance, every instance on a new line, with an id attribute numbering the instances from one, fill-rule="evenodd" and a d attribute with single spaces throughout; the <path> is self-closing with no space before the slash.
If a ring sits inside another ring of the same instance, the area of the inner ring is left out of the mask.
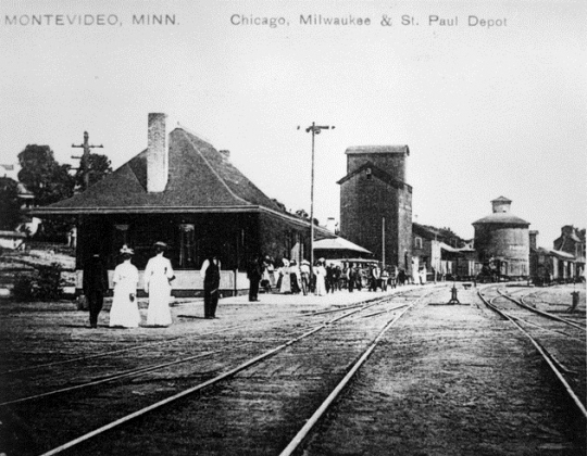
<path id="1" fill-rule="evenodd" d="M 239 381 L 243 381 L 242 379 L 252 379 L 246 380 L 246 384 L 251 382 L 257 384 L 257 378 L 260 375 L 274 379 L 275 372 L 285 372 L 283 381 L 290 381 L 294 375 L 294 378 L 299 379 L 295 381 L 295 383 L 300 383 L 297 388 L 310 391 L 309 401 L 313 405 L 317 397 L 321 400 L 325 396 L 330 397 L 329 394 L 325 394 L 327 389 L 341 390 L 352 377 L 350 372 L 355 372 L 369 357 L 379 334 L 388 330 L 421 297 L 422 293 L 427 292 L 429 289 L 400 292 L 385 299 L 361 303 L 360 306 L 344 306 L 330 309 L 328 313 L 300 314 L 298 318 L 259 322 L 258 327 L 249 322 L 246 328 L 234 326 L 229 331 L 212 332 L 205 338 L 185 340 L 177 338 L 161 341 L 160 345 L 139 346 L 137 350 L 148 352 L 153 349 L 162 350 L 164 344 L 171 344 L 179 349 L 179 352 L 185 349 L 187 353 L 189 345 L 198 344 L 199 350 L 196 354 L 191 352 L 188 356 L 184 355 L 173 360 L 166 359 L 140 368 L 126 368 L 124 371 L 118 368 L 107 368 L 92 379 L 74 385 L 5 401 L 0 405 L 0 413 L 3 420 L 9 422 L 15 416 L 34 417 L 35 414 L 46 413 L 46 410 L 54 414 L 54 420 L 43 417 L 39 427 L 27 423 L 23 427 L 24 429 L 21 429 L 24 431 L 26 441 L 17 442 L 17 439 L 12 439 L 12 444 L 17 447 L 18 454 L 28 455 L 41 452 L 46 455 L 112 454 L 108 445 L 115 441 L 120 442 L 121 439 L 124 441 L 124 436 L 110 436 L 104 440 L 104 435 L 113 435 L 113 433 L 115 435 L 118 432 L 124 434 L 127 429 L 136 431 L 137 426 L 140 427 L 140 423 L 147 421 L 147 415 L 149 420 L 152 419 L 163 426 L 168 420 L 175 419 L 177 410 L 184 410 L 184 407 L 196 407 L 196 411 L 190 408 L 190 413 L 187 414 L 186 419 L 189 422 L 209 421 L 211 414 L 207 404 L 215 401 L 214 389 L 227 388 L 223 387 L 224 384 L 238 384 Z M 322 353 L 321 347 L 324 346 L 334 347 L 333 352 Z M 135 352 L 130 350 L 127 353 Z M 113 363 L 111 358 L 122 354 L 120 350 L 104 352 L 100 359 L 107 359 L 115 367 L 120 363 Z M 319 359 L 320 363 L 316 363 Z M 330 366 L 330 371 L 326 369 L 324 372 L 322 364 L 325 360 L 326 365 Z M 77 362 L 72 359 L 72 363 L 63 364 L 79 369 Z M 38 368 L 42 370 L 47 366 L 38 366 Z M 316 369 L 315 377 L 311 375 L 310 380 L 302 380 L 308 378 L 309 369 Z M 277 375 L 277 377 L 282 376 Z M 338 383 L 341 378 L 344 383 Z M 333 387 L 334 379 L 337 382 L 336 387 Z M 229 388 L 236 388 L 237 395 L 240 394 L 238 387 Z M 282 394 L 280 388 L 275 391 L 277 395 Z M 247 394 L 252 394 L 252 392 L 248 391 Z M 254 400 L 253 403 L 263 402 L 263 388 L 259 394 L 261 397 Z M 108 422 L 104 422 L 103 416 L 97 417 L 99 419 L 88 419 L 88 416 L 92 415 L 92 405 L 103 403 L 103 401 L 112 402 L 112 416 L 117 418 Z M 288 407 L 292 407 L 291 413 L 295 415 L 300 414 L 301 417 L 305 417 L 299 418 L 299 422 L 305 422 L 308 416 L 312 416 L 312 414 L 307 416 L 310 410 L 299 410 L 297 401 Z M 321 404 L 321 407 L 324 409 L 327 405 Z M 223 410 L 222 406 L 217 408 Z M 267 416 L 265 413 L 262 415 Z M 217 419 L 222 421 L 222 417 Z M 312 419 L 317 420 L 317 418 Z M 67 426 L 59 427 L 55 421 L 61 425 L 65 422 Z M 34 428 L 35 431 L 27 427 Z M 88 428 L 95 428 L 95 430 L 82 432 L 82 430 L 87 431 Z M 157 426 L 152 431 L 140 429 L 139 433 L 148 440 L 149 435 L 157 433 Z M 292 430 L 289 433 L 295 434 Z M 77 436 L 72 438 L 73 434 Z M 101 449 L 104 442 L 107 442 L 107 448 Z M 284 443 L 283 447 L 289 447 L 287 442 Z M 146 451 L 147 453 L 141 451 L 141 454 L 148 454 L 148 445 Z"/>

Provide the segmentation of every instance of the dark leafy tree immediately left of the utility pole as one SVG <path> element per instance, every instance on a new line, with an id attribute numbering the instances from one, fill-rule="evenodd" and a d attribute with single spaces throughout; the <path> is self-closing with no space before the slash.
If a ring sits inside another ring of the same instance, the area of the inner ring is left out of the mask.
<path id="1" fill-rule="evenodd" d="M 18 154 L 18 180 L 33 192 L 39 206 L 73 195 L 75 179 L 70 175 L 71 165 L 60 165 L 49 145 L 28 144 Z"/>

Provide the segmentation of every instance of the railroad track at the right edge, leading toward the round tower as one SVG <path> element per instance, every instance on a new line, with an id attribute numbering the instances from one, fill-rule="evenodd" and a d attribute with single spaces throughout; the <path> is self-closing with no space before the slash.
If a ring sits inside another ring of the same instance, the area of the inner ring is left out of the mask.
<path id="1" fill-rule="evenodd" d="M 491 286 L 484 288 L 478 295 L 489 308 L 511 321 L 529 339 L 574 404 L 575 410 L 587 419 L 585 321 L 579 324 L 529 305 L 528 301 L 538 293 L 527 290 L 512 293 L 501 286 Z"/>

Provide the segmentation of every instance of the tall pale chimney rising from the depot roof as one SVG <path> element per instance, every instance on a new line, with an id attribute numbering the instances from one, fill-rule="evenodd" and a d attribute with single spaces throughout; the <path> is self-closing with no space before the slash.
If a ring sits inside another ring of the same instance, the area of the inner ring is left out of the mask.
<path id="1" fill-rule="evenodd" d="M 149 113 L 149 141 L 147 150 L 147 191 L 165 190 L 168 178 L 167 130 L 163 113 Z"/>

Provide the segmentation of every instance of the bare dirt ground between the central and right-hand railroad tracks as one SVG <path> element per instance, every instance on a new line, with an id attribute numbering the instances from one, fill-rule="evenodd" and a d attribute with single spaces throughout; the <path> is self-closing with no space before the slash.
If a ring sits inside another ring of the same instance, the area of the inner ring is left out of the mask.
<path id="1" fill-rule="evenodd" d="M 585 454 L 585 422 L 527 340 L 473 292 L 460 299 L 398 321 L 304 456 Z"/>

